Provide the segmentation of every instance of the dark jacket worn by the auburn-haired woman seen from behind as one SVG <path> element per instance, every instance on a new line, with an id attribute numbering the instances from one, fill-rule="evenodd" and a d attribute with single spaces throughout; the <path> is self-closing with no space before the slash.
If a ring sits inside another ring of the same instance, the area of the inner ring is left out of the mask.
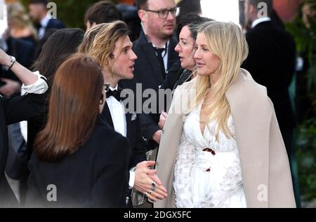
<path id="1" fill-rule="evenodd" d="M 58 162 L 29 161 L 27 207 L 126 207 L 129 141 L 99 116 L 91 137 Z M 48 202 L 47 186 L 57 188 Z"/>

